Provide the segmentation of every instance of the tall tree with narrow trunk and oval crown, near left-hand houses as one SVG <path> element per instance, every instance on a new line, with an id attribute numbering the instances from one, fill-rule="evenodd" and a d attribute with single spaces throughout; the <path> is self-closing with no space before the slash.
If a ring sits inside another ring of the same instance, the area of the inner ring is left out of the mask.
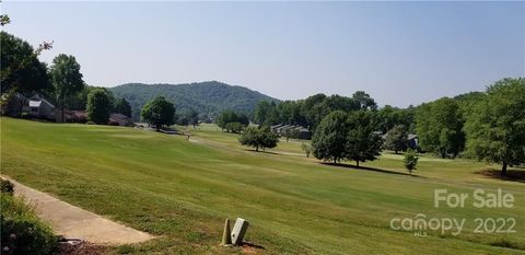
<path id="1" fill-rule="evenodd" d="M 61 119 L 65 121 L 63 111 L 68 100 L 84 89 L 80 65 L 73 56 L 60 54 L 52 59 L 49 72 L 55 88 L 56 101 L 61 107 Z"/>

